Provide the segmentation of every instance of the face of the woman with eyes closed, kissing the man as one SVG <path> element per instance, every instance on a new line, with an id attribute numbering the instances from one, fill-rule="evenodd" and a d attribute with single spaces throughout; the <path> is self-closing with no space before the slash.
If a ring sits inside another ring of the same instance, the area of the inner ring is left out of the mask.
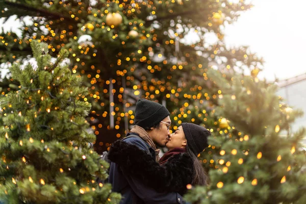
<path id="1" fill-rule="evenodd" d="M 186 148 L 187 140 L 183 131 L 183 126 L 177 127 L 176 131 L 169 136 L 169 140 L 166 143 L 168 149 L 173 148 Z"/>

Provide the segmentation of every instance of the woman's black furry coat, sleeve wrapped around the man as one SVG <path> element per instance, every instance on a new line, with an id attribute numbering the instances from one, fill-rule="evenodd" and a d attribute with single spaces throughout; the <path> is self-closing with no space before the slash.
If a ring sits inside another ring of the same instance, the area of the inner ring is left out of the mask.
<path id="1" fill-rule="evenodd" d="M 187 153 L 176 154 L 160 165 L 137 146 L 119 140 L 111 145 L 108 158 L 117 163 L 125 174 L 137 176 L 158 192 L 184 195 L 187 184 L 192 184 L 193 161 Z"/>

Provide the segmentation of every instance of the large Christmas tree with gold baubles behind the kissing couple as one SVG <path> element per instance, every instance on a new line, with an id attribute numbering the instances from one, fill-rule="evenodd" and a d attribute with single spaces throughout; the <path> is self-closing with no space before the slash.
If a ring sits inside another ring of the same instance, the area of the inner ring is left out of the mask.
<path id="1" fill-rule="evenodd" d="M 47 42 L 52 56 L 61 47 L 69 50 L 72 72 L 90 89 L 84 99 L 93 104 L 88 120 L 99 152 L 134 123 L 138 98 L 166 105 L 174 130 L 189 121 L 219 131 L 220 116 L 211 103 L 218 90 L 212 89 L 208 69 L 261 67 L 262 59 L 247 47 L 223 42 L 224 25 L 252 7 L 243 1 L 4 0 L 0 7 L 1 17 L 18 13 L 22 19 L 21 36 L 0 34 L 3 62 L 30 55 L 26 45 L 33 39 Z M 207 34 L 218 42 L 210 43 Z"/>

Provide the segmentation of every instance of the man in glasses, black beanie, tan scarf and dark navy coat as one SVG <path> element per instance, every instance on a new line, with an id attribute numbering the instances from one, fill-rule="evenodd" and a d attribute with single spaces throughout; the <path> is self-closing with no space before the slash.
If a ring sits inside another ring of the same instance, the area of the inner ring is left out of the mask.
<path id="1" fill-rule="evenodd" d="M 168 140 L 171 124 L 169 115 L 169 111 L 164 106 L 146 99 L 139 99 L 136 103 L 135 126 L 127 134 L 127 136 L 137 134 L 139 137 L 130 137 L 124 142 L 145 150 L 158 162 L 159 149 L 156 148 L 156 144 L 165 146 Z M 180 194 L 158 193 L 141 183 L 137 177 L 125 175 L 120 166 L 113 162 L 110 166 L 109 183 L 112 184 L 113 191 L 121 193 L 123 198 L 120 204 L 184 203 Z"/>

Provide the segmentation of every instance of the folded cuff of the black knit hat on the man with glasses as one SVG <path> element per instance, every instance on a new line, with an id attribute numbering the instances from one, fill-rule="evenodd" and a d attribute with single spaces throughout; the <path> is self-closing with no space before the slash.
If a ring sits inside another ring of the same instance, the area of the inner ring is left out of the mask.
<path id="1" fill-rule="evenodd" d="M 157 111 L 155 111 L 147 118 L 139 120 L 136 123 L 136 125 L 141 127 L 151 127 L 158 124 L 160 121 L 162 121 L 164 118 L 166 118 L 169 115 L 170 115 L 169 111 L 164 106 L 161 106 Z"/>

